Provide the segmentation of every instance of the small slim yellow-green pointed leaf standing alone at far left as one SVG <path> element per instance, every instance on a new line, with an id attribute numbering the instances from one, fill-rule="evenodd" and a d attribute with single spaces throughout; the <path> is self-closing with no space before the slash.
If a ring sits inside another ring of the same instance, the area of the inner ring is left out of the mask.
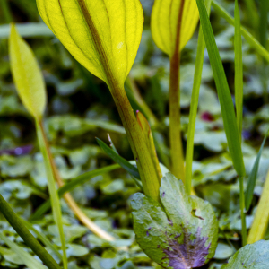
<path id="1" fill-rule="evenodd" d="M 13 80 L 22 103 L 33 117 L 42 117 L 47 102 L 45 82 L 30 46 L 14 25 L 11 26 L 9 51 Z"/>

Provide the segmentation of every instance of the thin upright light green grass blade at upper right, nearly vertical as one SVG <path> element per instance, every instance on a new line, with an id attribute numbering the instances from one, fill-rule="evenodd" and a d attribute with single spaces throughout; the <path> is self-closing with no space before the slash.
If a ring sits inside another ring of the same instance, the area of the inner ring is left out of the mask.
<path id="1" fill-rule="evenodd" d="M 243 118 L 243 56 L 242 56 L 242 38 L 241 22 L 239 13 L 239 2 L 235 1 L 235 35 L 234 35 L 234 52 L 235 52 L 235 101 L 237 109 L 237 124 L 239 130 L 239 139 L 242 134 Z"/>

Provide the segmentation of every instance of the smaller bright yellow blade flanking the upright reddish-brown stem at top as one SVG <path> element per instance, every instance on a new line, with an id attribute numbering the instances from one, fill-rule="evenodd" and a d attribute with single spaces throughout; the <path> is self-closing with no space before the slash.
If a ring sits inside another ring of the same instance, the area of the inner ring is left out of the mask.
<path id="1" fill-rule="evenodd" d="M 163 52 L 172 56 L 178 27 L 181 25 L 179 37 L 181 50 L 193 36 L 198 19 L 195 0 L 155 0 L 152 8 L 152 38 Z"/>

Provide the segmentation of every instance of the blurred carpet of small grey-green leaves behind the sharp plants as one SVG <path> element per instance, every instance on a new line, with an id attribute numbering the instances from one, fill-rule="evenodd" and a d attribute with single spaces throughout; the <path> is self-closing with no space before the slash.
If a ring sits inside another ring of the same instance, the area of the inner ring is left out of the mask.
<path id="1" fill-rule="evenodd" d="M 16 213 L 29 219 L 48 198 L 47 179 L 41 154 L 36 140 L 34 122 L 19 100 L 10 71 L 7 51 L 6 24 L 13 22 L 41 22 L 34 0 L 3 1 L 9 6 L 4 13 L 0 7 L 0 193 L 12 205 Z M 169 58 L 161 53 L 153 41 L 150 31 L 152 0 L 142 0 L 145 15 L 143 39 L 131 71 L 143 99 L 149 104 L 158 123 L 152 126 L 157 151 L 161 162 L 168 158 L 168 91 Z M 234 2 L 218 1 L 231 14 Z M 257 39 L 255 20 L 249 19 L 247 6 L 241 3 L 242 25 L 246 26 Z M 218 48 L 221 52 L 230 89 L 234 89 L 234 29 L 212 10 L 212 25 Z M 22 30 L 23 31 L 23 30 Z M 114 102 L 104 82 L 88 73 L 75 62 L 60 42 L 49 36 L 46 27 L 30 24 L 25 30 L 26 40 L 33 48 L 47 83 L 48 108 L 46 110 L 46 131 L 52 152 L 65 182 L 91 169 L 113 163 L 102 152 L 95 137 L 108 142 L 107 134 L 117 151 L 127 160 L 132 160 L 132 152 L 126 140 L 123 127 Z M 24 35 L 25 37 L 25 35 Z M 189 102 L 195 69 L 197 30 L 182 52 L 181 67 L 181 107 L 182 129 L 187 133 Z M 268 128 L 268 71 L 267 66 L 243 39 L 244 64 L 244 119 L 243 153 L 247 175 L 255 162 L 258 148 Z M 130 83 L 126 91 L 134 106 Z M 183 135 L 184 136 L 184 135 Z M 186 135 L 184 136 L 186 145 Z M 213 74 L 207 52 L 204 56 L 203 83 L 201 86 L 199 112 L 195 131 L 194 181 L 196 193 L 213 204 L 220 221 L 220 238 L 214 259 L 204 268 L 220 268 L 240 246 L 238 232 L 239 185 L 227 153 L 227 141 L 223 131 L 221 109 L 217 100 Z M 162 152 L 162 153 L 161 153 Z M 262 191 L 266 170 L 269 165 L 269 148 L 261 156 L 255 199 L 247 213 L 249 228 L 256 210 L 256 202 Z M 246 182 L 247 184 L 247 179 Z M 65 237 L 69 267 L 112 269 L 112 268 L 156 268 L 143 254 L 134 240 L 132 230 L 130 200 L 139 191 L 134 180 L 123 169 L 91 178 L 83 186 L 72 192 L 83 211 L 100 227 L 113 234 L 117 241 L 108 243 L 97 238 L 84 228 L 62 201 Z M 51 213 L 36 221 L 37 230 L 59 245 L 56 226 Z M 19 243 L 27 251 L 9 224 L 0 217 L 0 230 L 5 236 Z M 269 239 L 269 233 L 267 238 Z M 128 251 L 118 250 L 127 246 Z M 58 247 L 60 249 L 60 247 Z M 57 259 L 57 257 L 55 256 Z M 5 247 L 0 240 L 0 267 L 23 268 L 20 256 Z"/>

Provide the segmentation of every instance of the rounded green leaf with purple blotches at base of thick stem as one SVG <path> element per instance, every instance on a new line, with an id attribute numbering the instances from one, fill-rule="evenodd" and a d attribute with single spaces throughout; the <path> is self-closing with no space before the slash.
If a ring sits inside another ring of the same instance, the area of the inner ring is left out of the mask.
<path id="1" fill-rule="evenodd" d="M 172 174 L 161 178 L 161 204 L 135 194 L 134 232 L 143 251 L 164 268 L 206 264 L 217 247 L 218 223 L 208 202 L 189 196 Z"/>

